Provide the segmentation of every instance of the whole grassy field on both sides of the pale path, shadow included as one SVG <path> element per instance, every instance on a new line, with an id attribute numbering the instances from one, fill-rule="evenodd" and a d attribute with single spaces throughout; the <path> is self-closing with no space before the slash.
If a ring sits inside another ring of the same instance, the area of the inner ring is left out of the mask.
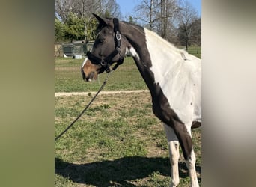
<path id="1" fill-rule="evenodd" d="M 97 91 L 100 81 L 82 81 L 82 60 L 55 59 L 55 92 Z M 104 91 L 145 90 L 132 58 L 112 73 Z M 92 98 L 55 97 L 55 136 Z M 201 183 L 201 129 L 192 131 Z M 180 151 L 180 186 L 189 174 Z M 153 115 L 150 93 L 100 94 L 55 143 L 55 186 L 168 186 L 171 168 L 162 123 Z"/>

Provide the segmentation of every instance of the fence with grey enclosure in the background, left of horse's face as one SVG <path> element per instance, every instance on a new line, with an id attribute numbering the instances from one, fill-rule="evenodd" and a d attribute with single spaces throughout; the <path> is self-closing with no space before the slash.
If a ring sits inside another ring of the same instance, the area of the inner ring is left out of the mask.
<path id="1" fill-rule="evenodd" d="M 54 55 L 55 57 L 74 57 L 76 55 L 85 57 L 93 44 L 94 41 L 88 43 L 54 43 Z"/>

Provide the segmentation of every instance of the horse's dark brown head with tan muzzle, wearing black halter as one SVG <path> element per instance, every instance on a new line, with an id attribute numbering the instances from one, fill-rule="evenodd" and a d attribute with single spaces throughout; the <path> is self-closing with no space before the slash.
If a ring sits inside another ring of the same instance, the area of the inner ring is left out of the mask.
<path id="1" fill-rule="evenodd" d="M 97 79 L 97 75 L 104 71 L 109 72 L 112 64 L 122 64 L 129 44 L 119 31 L 118 19 L 93 15 L 99 22 L 98 34 L 81 67 L 82 78 L 87 82 Z"/>

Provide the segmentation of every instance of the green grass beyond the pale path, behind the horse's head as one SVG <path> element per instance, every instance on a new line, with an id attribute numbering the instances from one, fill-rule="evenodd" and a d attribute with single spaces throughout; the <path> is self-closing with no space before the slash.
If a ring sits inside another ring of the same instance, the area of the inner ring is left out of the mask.
<path id="1" fill-rule="evenodd" d="M 201 47 L 193 46 L 189 52 L 201 58 Z M 95 82 L 82 81 L 80 67 L 84 59 L 55 58 L 55 92 L 97 91 L 106 78 L 102 73 Z M 112 73 L 104 91 L 144 90 L 147 86 L 131 57 L 124 59 L 124 64 Z"/>

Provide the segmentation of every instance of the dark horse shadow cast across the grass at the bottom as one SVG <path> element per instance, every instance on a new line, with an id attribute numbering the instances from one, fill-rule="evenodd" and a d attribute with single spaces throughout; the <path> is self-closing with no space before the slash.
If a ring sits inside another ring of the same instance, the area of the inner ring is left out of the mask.
<path id="1" fill-rule="evenodd" d="M 188 177 L 186 164 L 179 162 L 179 165 L 180 177 Z M 201 167 L 197 167 L 197 170 L 201 173 Z M 163 176 L 171 176 L 169 159 L 131 156 L 113 161 L 73 164 L 55 158 L 55 174 L 75 183 L 93 186 L 135 186 L 129 180 L 143 179 L 155 171 Z"/>

